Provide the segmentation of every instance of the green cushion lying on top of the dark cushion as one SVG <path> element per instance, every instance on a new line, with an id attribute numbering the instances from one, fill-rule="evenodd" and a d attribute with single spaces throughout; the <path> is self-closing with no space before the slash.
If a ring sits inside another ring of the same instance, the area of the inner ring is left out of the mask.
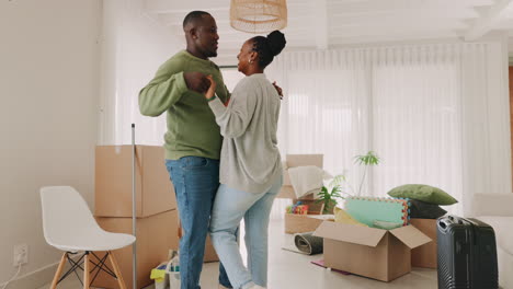
<path id="1" fill-rule="evenodd" d="M 409 184 L 392 188 L 388 195 L 395 198 L 411 198 L 434 205 L 453 205 L 458 203 L 444 190 L 428 185 Z"/>

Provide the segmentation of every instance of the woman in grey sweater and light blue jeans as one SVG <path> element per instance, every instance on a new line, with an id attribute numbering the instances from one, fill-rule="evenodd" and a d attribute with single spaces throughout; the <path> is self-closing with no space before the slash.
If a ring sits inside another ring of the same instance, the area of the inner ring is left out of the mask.
<path id="1" fill-rule="evenodd" d="M 267 227 L 274 198 L 282 187 L 282 165 L 276 147 L 280 95 L 263 73 L 285 47 L 278 31 L 256 36 L 240 49 L 238 69 L 246 74 L 225 107 L 216 97 L 216 83 L 205 93 L 225 137 L 221 183 L 214 201 L 210 236 L 236 289 L 264 288 L 267 284 Z M 237 228 L 244 218 L 248 267 L 237 245 Z"/>

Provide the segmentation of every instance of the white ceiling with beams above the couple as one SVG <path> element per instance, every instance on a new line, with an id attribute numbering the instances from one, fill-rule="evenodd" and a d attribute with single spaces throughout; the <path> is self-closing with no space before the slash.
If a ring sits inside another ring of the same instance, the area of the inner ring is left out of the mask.
<path id="1" fill-rule="evenodd" d="M 230 26 L 229 7 L 230 0 L 145 0 L 146 13 L 180 38 L 186 13 L 212 13 L 220 36 L 218 62 L 233 59 L 242 43 L 253 36 Z M 287 0 L 287 9 L 288 25 L 283 32 L 288 49 L 441 38 L 475 41 L 492 31 L 513 31 L 513 0 Z"/>

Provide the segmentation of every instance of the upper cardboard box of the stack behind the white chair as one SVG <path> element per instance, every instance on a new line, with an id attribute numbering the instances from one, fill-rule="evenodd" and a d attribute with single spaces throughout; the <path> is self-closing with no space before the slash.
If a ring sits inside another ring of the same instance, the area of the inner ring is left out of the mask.
<path id="1" fill-rule="evenodd" d="M 132 217 L 132 146 L 99 146 L 95 152 L 94 215 Z M 137 217 L 176 208 L 162 147 L 136 146 Z"/>

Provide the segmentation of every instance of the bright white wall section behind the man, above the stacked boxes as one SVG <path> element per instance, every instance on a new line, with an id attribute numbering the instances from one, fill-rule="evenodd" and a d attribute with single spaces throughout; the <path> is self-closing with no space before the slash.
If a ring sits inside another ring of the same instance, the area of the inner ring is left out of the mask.
<path id="1" fill-rule="evenodd" d="M 170 27 L 142 11 L 141 0 L 104 2 L 101 144 L 130 143 L 132 123 L 136 124 L 137 143 L 163 143 L 166 114 L 157 118 L 140 115 L 138 94 L 160 65 L 185 49 L 185 44 L 173 35 Z"/>

